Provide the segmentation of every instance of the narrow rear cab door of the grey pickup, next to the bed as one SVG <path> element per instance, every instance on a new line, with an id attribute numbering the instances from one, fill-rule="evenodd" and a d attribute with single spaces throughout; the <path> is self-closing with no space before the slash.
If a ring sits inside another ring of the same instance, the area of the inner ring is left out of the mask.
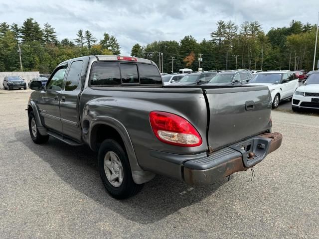
<path id="1" fill-rule="evenodd" d="M 89 57 L 70 63 L 65 83 L 60 94 L 60 113 L 63 135 L 76 141 L 82 140 L 79 117 L 79 98 L 84 83 Z"/>

